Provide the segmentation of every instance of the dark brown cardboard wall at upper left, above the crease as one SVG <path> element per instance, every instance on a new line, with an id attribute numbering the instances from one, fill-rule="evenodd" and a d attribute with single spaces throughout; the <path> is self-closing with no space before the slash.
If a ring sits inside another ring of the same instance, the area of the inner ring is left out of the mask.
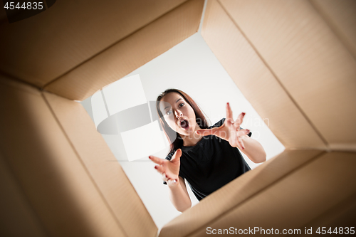
<path id="1" fill-rule="evenodd" d="M 41 88 L 183 2 L 56 1 L 0 26 L 0 70 Z"/>

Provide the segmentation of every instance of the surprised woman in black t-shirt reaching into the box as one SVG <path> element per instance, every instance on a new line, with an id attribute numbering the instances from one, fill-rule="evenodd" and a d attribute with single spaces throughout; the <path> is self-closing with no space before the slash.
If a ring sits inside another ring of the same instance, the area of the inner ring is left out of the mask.
<path id="1" fill-rule="evenodd" d="M 158 96 L 156 108 L 171 150 L 166 159 L 149 158 L 167 181 L 169 199 L 178 211 L 192 206 L 184 179 L 200 201 L 250 170 L 239 149 L 255 163 L 266 161 L 261 144 L 240 127 L 245 113 L 234 121 L 229 103 L 226 119 L 211 127 L 194 100 L 181 90 L 165 90 Z"/>

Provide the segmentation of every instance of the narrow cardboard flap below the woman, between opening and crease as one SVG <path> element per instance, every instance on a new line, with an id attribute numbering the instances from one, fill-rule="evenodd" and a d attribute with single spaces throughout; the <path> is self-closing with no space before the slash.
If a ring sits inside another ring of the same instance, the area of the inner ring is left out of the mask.
<path id="1" fill-rule="evenodd" d="M 317 150 L 285 150 L 174 218 L 162 228 L 159 236 L 190 236 L 197 229 L 206 228 L 216 218 L 226 216 L 231 209 L 244 205 L 253 196 L 258 196 L 289 173 L 302 169 L 321 154 L 323 152 Z"/>

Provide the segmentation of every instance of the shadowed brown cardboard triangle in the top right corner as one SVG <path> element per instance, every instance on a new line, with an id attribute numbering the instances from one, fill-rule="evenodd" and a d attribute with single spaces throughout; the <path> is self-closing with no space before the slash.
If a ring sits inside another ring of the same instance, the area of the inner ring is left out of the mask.
<path id="1" fill-rule="evenodd" d="M 310 4 L 356 58 L 356 1 L 310 0 Z"/>

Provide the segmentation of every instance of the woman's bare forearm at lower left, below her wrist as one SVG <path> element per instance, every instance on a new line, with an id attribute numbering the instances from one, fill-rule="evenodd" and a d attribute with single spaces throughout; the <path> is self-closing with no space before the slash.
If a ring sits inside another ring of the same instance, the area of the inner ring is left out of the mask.
<path id="1" fill-rule="evenodd" d="M 192 207 L 192 201 L 190 201 L 189 195 L 184 191 L 181 184 L 169 186 L 169 199 L 180 212 Z"/>

